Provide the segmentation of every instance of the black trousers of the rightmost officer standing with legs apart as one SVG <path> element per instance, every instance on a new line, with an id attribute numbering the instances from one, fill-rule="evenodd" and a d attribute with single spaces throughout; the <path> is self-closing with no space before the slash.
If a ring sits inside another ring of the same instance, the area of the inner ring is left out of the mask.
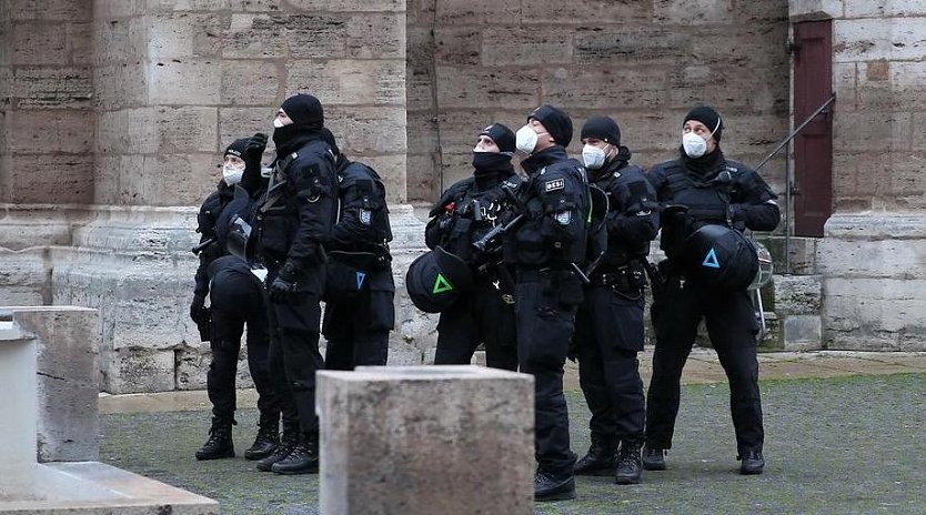
<path id="1" fill-rule="evenodd" d="M 729 408 L 737 452 L 762 451 L 764 430 L 758 390 L 755 317 L 749 294 L 718 291 L 671 277 L 653 304 L 656 351 L 646 400 L 646 445 L 672 447 L 682 368 L 704 317 L 717 357 L 729 380 Z"/>

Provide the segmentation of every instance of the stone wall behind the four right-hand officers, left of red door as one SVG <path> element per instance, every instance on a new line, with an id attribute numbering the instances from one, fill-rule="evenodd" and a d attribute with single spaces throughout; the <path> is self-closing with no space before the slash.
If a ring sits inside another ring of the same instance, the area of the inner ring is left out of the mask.
<path id="1" fill-rule="evenodd" d="M 713 104 L 723 148 L 756 164 L 788 128 L 787 2 L 409 2 L 409 195 L 432 202 L 472 173 L 475 134 L 541 103 L 578 130 L 610 114 L 643 165 L 671 159 L 684 113 Z M 764 176 L 783 191 L 784 160 Z"/>

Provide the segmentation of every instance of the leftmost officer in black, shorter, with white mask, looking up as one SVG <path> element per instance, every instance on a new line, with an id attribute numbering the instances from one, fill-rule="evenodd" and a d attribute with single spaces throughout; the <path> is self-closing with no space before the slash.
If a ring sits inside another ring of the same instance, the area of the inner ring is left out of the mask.
<path id="1" fill-rule="evenodd" d="M 245 323 L 248 365 L 258 391 L 260 421 L 258 436 L 244 452 L 244 457 L 260 460 L 266 456 L 276 447 L 279 440 L 280 408 L 266 363 L 270 342 L 263 289 L 245 263 L 228 255 L 223 235 L 218 231 L 220 221 L 234 214 L 231 211 L 246 208 L 246 200 L 243 206 L 233 202 L 235 185 L 240 184 L 238 188 L 243 188 L 245 198 L 250 198 L 258 193 L 262 182 L 266 182 L 260 175 L 264 147 L 266 137 L 258 133 L 235 140 L 225 149 L 222 180 L 205 199 L 198 216 L 197 231 L 202 236 L 190 317 L 199 325 L 208 325 L 211 332 L 212 361 L 207 373 L 207 391 L 213 416 L 209 440 L 197 451 L 197 460 L 234 456 L 231 434 L 236 407 L 234 380 Z M 204 307 L 207 295 L 210 297 L 210 310 Z"/>

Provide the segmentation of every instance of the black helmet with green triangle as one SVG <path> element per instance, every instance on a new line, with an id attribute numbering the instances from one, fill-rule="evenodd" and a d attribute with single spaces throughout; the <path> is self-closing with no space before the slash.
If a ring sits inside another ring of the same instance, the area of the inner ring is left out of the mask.
<path id="1" fill-rule="evenodd" d="M 446 310 L 472 285 L 470 266 L 440 246 L 414 260 L 405 274 L 412 303 L 425 313 Z"/>

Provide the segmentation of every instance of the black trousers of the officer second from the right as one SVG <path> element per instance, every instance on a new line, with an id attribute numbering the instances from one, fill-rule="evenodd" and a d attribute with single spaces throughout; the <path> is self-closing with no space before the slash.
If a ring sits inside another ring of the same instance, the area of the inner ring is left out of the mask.
<path id="1" fill-rule="evenodd" d="M 643 441 L 644 395 L 637 352 L 643 350 L 643 294 L 613 286 L 585 290 L 575 317 L 578 383 L 601 440 Z"/>

